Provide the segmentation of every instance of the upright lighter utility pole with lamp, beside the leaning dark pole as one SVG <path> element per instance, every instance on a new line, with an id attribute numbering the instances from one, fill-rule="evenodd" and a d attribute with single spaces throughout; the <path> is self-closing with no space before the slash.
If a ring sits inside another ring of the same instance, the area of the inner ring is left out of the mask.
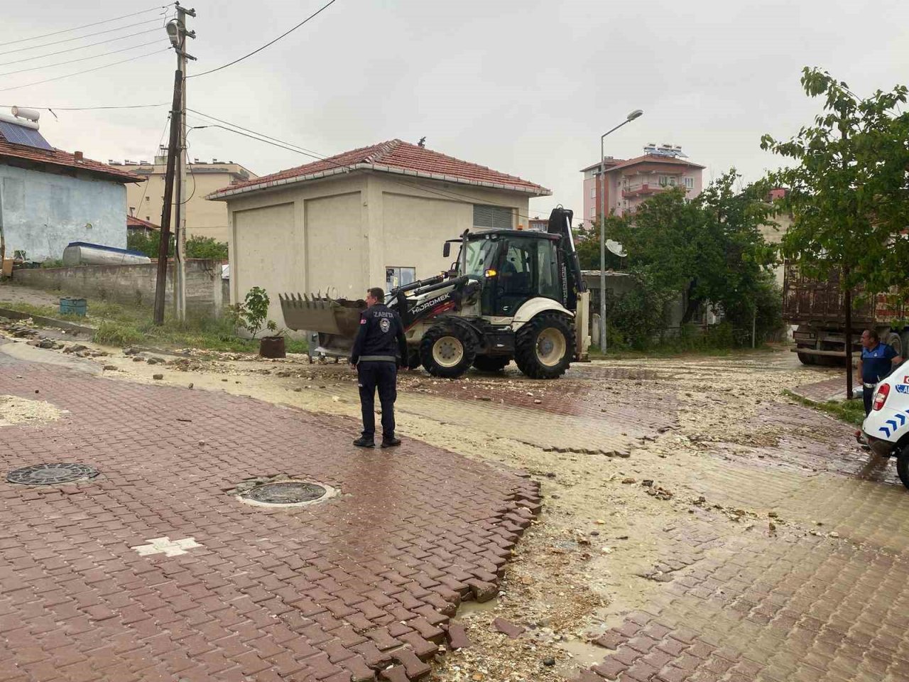
<path id="1" fill-rule="evenodd" d="M 175 3 L 176 18 L 167 25 L 167 35 L 176 52 L 177 72 L 183 80 L 180 95 L 179 140 L 177 142 L 177 176 L 176 187 L 176 239 L 175 239 L 175 268 L 174 268 L 174 303 L 176 317 L 183 321 L 186 318 L 186 211 L 183 202 L 186 196 L 186 61 L 195 60 L 192 55 L 186 54 L 186 38 L 195 38 L 195 31 L 186 30 L 186 17 L 195 17 L 195 9 L 185 9 L 179 2 Z"/>

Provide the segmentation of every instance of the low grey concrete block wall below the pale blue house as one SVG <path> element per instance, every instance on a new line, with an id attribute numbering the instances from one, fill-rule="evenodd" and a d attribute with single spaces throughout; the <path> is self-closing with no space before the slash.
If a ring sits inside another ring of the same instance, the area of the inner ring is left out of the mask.
<path id="1" fill-rule="evenodd" d="M 136 266 L 76 266 L 15 270 L 15 284 L 34 286 L 61 296 L 113 301 L 127 306 L 155 304 L 157 264 Z M 167 263 L 166 301 L 174 292 L 174 262 Z M 186 312 L 192 316 L 220 316 L 224 299 L 221 262 L 201 258 L 186 261 Z"/>

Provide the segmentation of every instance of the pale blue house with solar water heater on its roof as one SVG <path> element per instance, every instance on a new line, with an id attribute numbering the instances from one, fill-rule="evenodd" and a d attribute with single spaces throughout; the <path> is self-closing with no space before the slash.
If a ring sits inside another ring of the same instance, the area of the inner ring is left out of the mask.
<path id="1" fill-rule="evenodd" d="M 70 242 L 125 248 L 125 185 L 140 178 L 55 149 L 31 118 L 0 115 L 0 235 L 5 257 L 63 257 Z"/>

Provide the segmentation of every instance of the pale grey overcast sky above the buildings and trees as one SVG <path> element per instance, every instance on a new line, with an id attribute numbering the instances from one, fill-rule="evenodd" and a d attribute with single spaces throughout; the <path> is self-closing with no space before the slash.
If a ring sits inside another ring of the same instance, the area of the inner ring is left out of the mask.
<path id="1" fill-rule="evenodd" d="M 154 0 L 33 0 L 4 4 L 0 105 L 93 106 L 169 102 L 175 57 L 146 56 L 44 85 L 57 75 L 168 45 L 164 30 L 107 45 L 9 64 L 155 28 L 150 13 L 74 33 L 17 42 L 138 12 Z M 222 65 L 302 21 L 325 0 L 187 0 L 198 14 L 190 73 Z M 55 62 L 141 45 L 70 65 Z M 13 52 L 15 50 L 15 52 Z M 553 190 L 531 212 L 583 208 L 585 165 L 599 136 L 632 109 L 644 116 L 606 138 L 606 154 L 639 155 L 649 142 L 682 145 L 707 166 L 705 180 L 735 166 L 746 180 L 778 165 L 760 137 L 793 135 L 820 103 L 801 92 L 817 65 L 867 94 L 909 83 L 906 0 L 337 0 L 322 15 L 245 62 L 188 81 L 188 106 L 324 154 L 399 137 L 488 165 Z M 0 108 L 0 111 L 6 111 Z M 166 106 L 46 112 L 52 145 L 107 160 L 150 159 Z M 198 121 L 190 120 L 199 125 Z M 233 160 L 259 175 L 303 155 L 223 130 L 196 130 L 190 155 Z"/>

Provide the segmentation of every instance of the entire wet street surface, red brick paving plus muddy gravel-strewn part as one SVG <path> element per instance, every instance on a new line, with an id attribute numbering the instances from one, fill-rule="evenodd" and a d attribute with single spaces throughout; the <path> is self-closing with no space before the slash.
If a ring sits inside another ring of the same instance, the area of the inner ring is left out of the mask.
<path id="1" fill-rule="evenodd" d="M 391 456 L 347 446 L 344 366 L 172 365 L 149 386 L 162 366 L 128 357 L 105 362 L 129 381 L 4 357 L 0 394 L 69 411 L 3 428 L 5 468 L 102 471 L 0 484 L 9 679 L 120 679 L 98 667 L 113 660 L 143 680 L 909 680 L 909 492 L 853 428 L 783 396 L 841 381 L 785 350 L 554 382 L 403 374 Z M 263 510 L 227 493 L 279 473 L 342 495 Z M 515 545 L 538 485 L 542 523 Z M 470 646 L 441 656 L 452 625 Z"/>

